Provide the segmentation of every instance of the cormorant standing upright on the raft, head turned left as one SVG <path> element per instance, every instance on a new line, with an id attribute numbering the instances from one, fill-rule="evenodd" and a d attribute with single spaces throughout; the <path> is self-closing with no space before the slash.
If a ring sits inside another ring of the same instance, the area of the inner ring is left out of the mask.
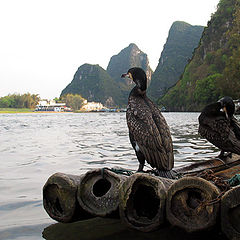
<path id="1" fill-rule="evenodd" d="M 146 96 L 146 73 L 143 69 L 134 67 L 122 77 L 128 77 L 136 84 L 128 97 L 126 117 L 130 142 L 139 161 L 138 171 L 143 171 L 146 160 L 158 170 L 160 176 L 172 178 L 172 138 L 160 110 Z"/>

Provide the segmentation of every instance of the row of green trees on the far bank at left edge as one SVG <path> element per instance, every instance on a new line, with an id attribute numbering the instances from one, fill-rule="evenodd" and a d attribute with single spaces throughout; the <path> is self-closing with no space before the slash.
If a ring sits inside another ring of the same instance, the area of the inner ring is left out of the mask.
<path id="1" fill-rule="evenodd" d="M 30 108 L 34 109 L 40 97 L 38 94 L 9 94 L 0 98 L 0 108 Z"/>

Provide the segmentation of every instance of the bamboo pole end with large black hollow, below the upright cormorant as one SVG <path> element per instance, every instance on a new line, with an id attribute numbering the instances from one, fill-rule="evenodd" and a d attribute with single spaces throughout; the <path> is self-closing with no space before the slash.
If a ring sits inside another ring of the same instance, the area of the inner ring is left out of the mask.
<path id="1" fill-rule="evenodd" d="M 174 180 L 135 173 L 119 192 L 121 219 L 131 228 L 149 232 L 165 220 L 166 191 Z"/>

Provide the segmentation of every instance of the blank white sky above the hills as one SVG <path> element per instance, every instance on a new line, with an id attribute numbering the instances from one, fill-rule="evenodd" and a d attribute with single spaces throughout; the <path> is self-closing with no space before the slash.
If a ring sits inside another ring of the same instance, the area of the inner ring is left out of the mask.
<path id="1" fill-rule="evenodd" d="M 59 97 L 84 63 L 130 43 L 155 70 L 174 21 L 206 26 L 219 0 L 1 0 L 0 97 Z"/>

